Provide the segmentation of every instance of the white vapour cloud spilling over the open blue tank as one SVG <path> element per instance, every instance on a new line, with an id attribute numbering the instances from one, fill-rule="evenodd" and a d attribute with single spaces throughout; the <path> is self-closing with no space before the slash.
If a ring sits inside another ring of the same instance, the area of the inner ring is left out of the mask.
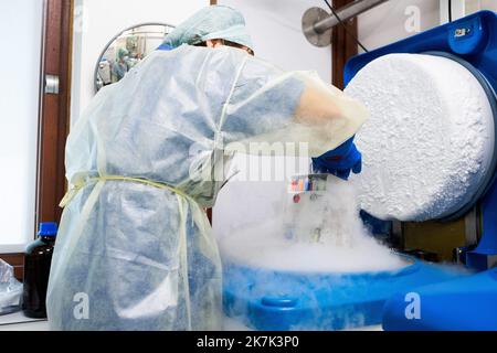
<path id="1" fill-rule="evenodd" d="M 326 195 L 318 201 L 303 200 L 298 212 L 293 210 L 293 224 L 281 214 L 281 217 L 239 227 L 219 239 L 223 259 L 255 268 L 298 272 L 369 272 L 408 265 L 364 228 L 353 185 L 330 176 L 327 188 Z M 299 242 L 285 238 L 288 226 Z M 316 227 L 321 228 L 319 243 L 310 239 Z"/>

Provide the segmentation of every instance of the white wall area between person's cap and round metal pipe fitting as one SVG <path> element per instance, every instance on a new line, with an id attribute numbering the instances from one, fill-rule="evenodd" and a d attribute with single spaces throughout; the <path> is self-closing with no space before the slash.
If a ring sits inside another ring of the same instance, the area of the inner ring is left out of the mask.
<path id="1" fill-rule="evenodd" d="M 302 33 L 302 17 L 320 0 L 219 0 L 240 10 L 254 41 L 256 55 L 284 69 L 313 69 L 331 82 L 331 49 L 316 47 Z"/>

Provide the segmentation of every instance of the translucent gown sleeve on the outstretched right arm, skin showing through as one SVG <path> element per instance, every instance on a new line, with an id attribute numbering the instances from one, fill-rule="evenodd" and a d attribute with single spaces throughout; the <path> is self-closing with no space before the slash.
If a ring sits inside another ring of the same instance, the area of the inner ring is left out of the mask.
<path id="1" fill-rule="evenodd" d="M 222 131 L 228 150 L 317 157 L 352 137 L 368 115 L 316 73 L 284 72 L 248 57 L 224 107 Z"/>

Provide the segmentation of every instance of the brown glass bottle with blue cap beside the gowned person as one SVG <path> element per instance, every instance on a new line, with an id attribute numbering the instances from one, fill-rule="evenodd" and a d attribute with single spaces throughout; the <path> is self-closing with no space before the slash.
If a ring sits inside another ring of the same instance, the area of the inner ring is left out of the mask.
<path id="1" fill-rule="evenodd" d="M 39 238 L 25 249 L 22 311 L 28 318 L 46 318 L 46 287 L 56 233 L 55 223 L 40 224 Z"/>

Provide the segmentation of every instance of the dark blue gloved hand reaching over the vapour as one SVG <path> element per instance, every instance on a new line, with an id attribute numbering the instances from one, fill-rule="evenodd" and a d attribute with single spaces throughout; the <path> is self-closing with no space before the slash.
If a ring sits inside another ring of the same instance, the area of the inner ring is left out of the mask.
<path id="1" fill-rule="evenodd" d="M 314 171 L 316 173 L 334 174 L 343 180 L 349 179 L 350 171 L 359 174 L 362 170 L 362 156 L 356 148 L 353 138 L 321 157 L 313 158 Z"/>

